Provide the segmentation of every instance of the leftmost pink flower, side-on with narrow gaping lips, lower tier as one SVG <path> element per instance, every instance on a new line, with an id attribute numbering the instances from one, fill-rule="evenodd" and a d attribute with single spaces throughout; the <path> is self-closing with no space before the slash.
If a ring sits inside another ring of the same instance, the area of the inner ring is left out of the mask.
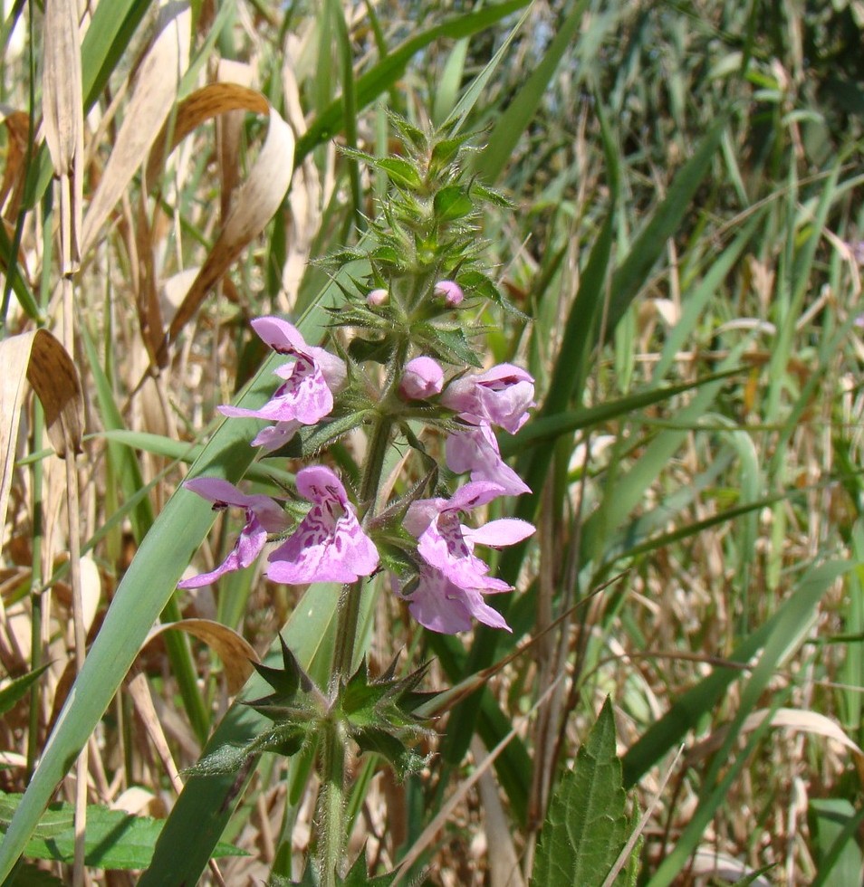
<path id="1" fill-rule="evenodd" d="M 245 509 L 246 524 L 237 538 L 235 547 L 220 567 L 210 573 L 202 573 L 178 582 L 178 588 L 199 588 L 215 582 L 225 573 L 249 567 L 261 554 L 268 533 L 280 533 L 288 527 L 288 516 L 282 506 L 269 496 L 247 496 L 233 483 L 216 477 L 197 477 L 183 484 L 188 490 L 213 502 L 214 509 L 228 506 Z"/>

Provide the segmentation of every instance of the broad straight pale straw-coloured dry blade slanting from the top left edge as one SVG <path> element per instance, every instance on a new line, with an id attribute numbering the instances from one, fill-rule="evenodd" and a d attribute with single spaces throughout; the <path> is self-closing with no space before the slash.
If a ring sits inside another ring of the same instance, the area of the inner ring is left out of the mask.
<path id="1" fill-rule="evenodd" d="M 162 10 L 158 36 L 141 64 L 117 142 L 84 218 L 82 252 L 95 243 L 102 224 L 175 107 L 180 78 L 188 66 L 190 22 L 187 5 L 169 4 Z"/>

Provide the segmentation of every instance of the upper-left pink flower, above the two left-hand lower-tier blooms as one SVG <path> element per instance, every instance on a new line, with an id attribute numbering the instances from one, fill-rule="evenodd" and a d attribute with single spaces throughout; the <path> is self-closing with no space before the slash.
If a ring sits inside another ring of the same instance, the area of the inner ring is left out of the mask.
<path id="1" fill-rule="evenodd" d="M 252 442 L 274 450 L 290 440 L 301 425 L 313 425 L 333 408 L 333 392 L 338 391 L 347 373 L 345 363 L 324 348 L 307 345 L 300 331 L 287 320 L 256 318 L 252 326 L 258 336 L 279 354 L 293 358 L 275 370 L 284 382 L 264 406 L 256 410 L 220 406 L 228 416 L 271 419 L 276 425 L 264 429 Z"/>

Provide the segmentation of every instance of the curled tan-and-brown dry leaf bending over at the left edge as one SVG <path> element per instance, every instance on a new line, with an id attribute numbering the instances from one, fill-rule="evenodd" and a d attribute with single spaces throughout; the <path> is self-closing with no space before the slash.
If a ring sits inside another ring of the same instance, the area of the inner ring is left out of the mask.
<path id="1" fill-rule="evenodd" d="M 21 423 L 24 378 L 42 401 L 48 437 L 59 456 L 81 453 L 84 402 L 72 358 L 47 329 L 36 329 L 0 342 L 0 546 L 12 486 L 15 443 Z"/>

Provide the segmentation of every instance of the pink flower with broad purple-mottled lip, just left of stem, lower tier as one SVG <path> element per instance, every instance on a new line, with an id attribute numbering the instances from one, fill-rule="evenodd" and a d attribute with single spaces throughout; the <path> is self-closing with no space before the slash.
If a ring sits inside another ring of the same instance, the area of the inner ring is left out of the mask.
<path id="1" fill-rule="evenodd" d="M 268 560 L 267 577 L 286 585 L 354 582 L 379 564 L 378 550 L 360 528 L 339 478 L 312 465 L 297 472 L 297 491 L 312 508 Z"/>

